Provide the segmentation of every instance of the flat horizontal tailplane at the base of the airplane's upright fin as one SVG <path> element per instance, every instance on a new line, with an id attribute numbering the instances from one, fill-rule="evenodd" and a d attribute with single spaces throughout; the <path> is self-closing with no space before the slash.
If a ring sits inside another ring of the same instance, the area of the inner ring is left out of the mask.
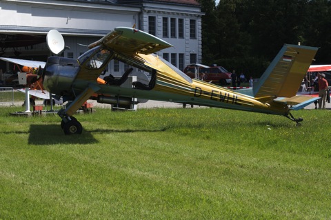
<path id="1" fill-rule="evenodd" d="M 317 100 L 319 100 L 318 97 L 309 97 L 309 96 L 301 96 L 301 95 L 297 95 L 297 96 L 290 97 L 290 98 L 279 97 L 277 99 L 274 99 L 274 101 L 276 101 L 276 102 L 290 105 L 291 110 L 300 110 L 302 108 L 305 108 L 305 106 L 308 106 Z"/>

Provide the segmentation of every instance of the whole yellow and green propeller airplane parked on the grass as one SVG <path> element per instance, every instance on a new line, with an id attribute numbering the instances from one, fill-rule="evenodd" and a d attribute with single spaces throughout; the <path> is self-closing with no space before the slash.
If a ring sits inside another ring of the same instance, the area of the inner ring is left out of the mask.
<path id="1" fill-rule="evenodd" d="M 78 59 L 49 57 L 43 68 L 43 86 L 48 92 L 63 97 L 63 101 L 68 101 L 66 108 L 58 112 L 65 134 L 81 134 L 81 123 L 72 115 L 93 94 L 97 94 L 99 102 L 114 105 L 134 104 L 136 98 L 152 99 L 277 114 L 296 123 L 303 119 L 294 118 L 291 110 L 299 110 L 319 99 L 296 95 L 318 48 L 285 44 L 253 88 L 228 90 L 191 79 L 154 54 L 169 47 L 172 45 L 151 34 L 119 27 L 90 44 L 90 50 Z M 132 88 L 122 87 L 132 69 L 121 79 L 100 79 L 100 74 L 112 59 L 149 72 L 149 83 L 136 81 Z"/>

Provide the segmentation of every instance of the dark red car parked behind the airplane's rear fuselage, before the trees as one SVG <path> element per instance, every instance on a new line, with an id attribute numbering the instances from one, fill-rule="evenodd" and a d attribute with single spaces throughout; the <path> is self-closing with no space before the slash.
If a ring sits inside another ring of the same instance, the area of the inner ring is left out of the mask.
<path id="1" fill-rule="evenodd" d="M 231 83 L 231 72 L 222 66 L 204 66 L 201 64 L 193 64 L 185 67 L 184 71 L 190 78 L 201 79 L 203 74 L 203 81 L 211 81 L 214 84 L 225 86 Z"/>

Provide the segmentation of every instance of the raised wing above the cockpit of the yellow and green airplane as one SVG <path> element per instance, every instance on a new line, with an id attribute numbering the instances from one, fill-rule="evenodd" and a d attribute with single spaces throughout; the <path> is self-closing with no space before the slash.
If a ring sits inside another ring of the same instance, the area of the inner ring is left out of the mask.
<path id="1" fill-rule="evenodd" d="M 126 27 L 115 28 L 99 41 L 91 43 L 88 48 L 94 48 L 100 44 L 121 54 L 151 54 L 172 47 L 170 43 L 152 34 Z"/>

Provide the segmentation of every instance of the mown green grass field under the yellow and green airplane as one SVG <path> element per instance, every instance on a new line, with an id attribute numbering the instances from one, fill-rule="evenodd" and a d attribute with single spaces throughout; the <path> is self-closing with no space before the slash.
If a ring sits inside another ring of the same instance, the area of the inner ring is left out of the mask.
<path id="1" fill-rule="evenodd" d="M 0 108 L 0 219 L 331 219 L 330 111 Z"/>

